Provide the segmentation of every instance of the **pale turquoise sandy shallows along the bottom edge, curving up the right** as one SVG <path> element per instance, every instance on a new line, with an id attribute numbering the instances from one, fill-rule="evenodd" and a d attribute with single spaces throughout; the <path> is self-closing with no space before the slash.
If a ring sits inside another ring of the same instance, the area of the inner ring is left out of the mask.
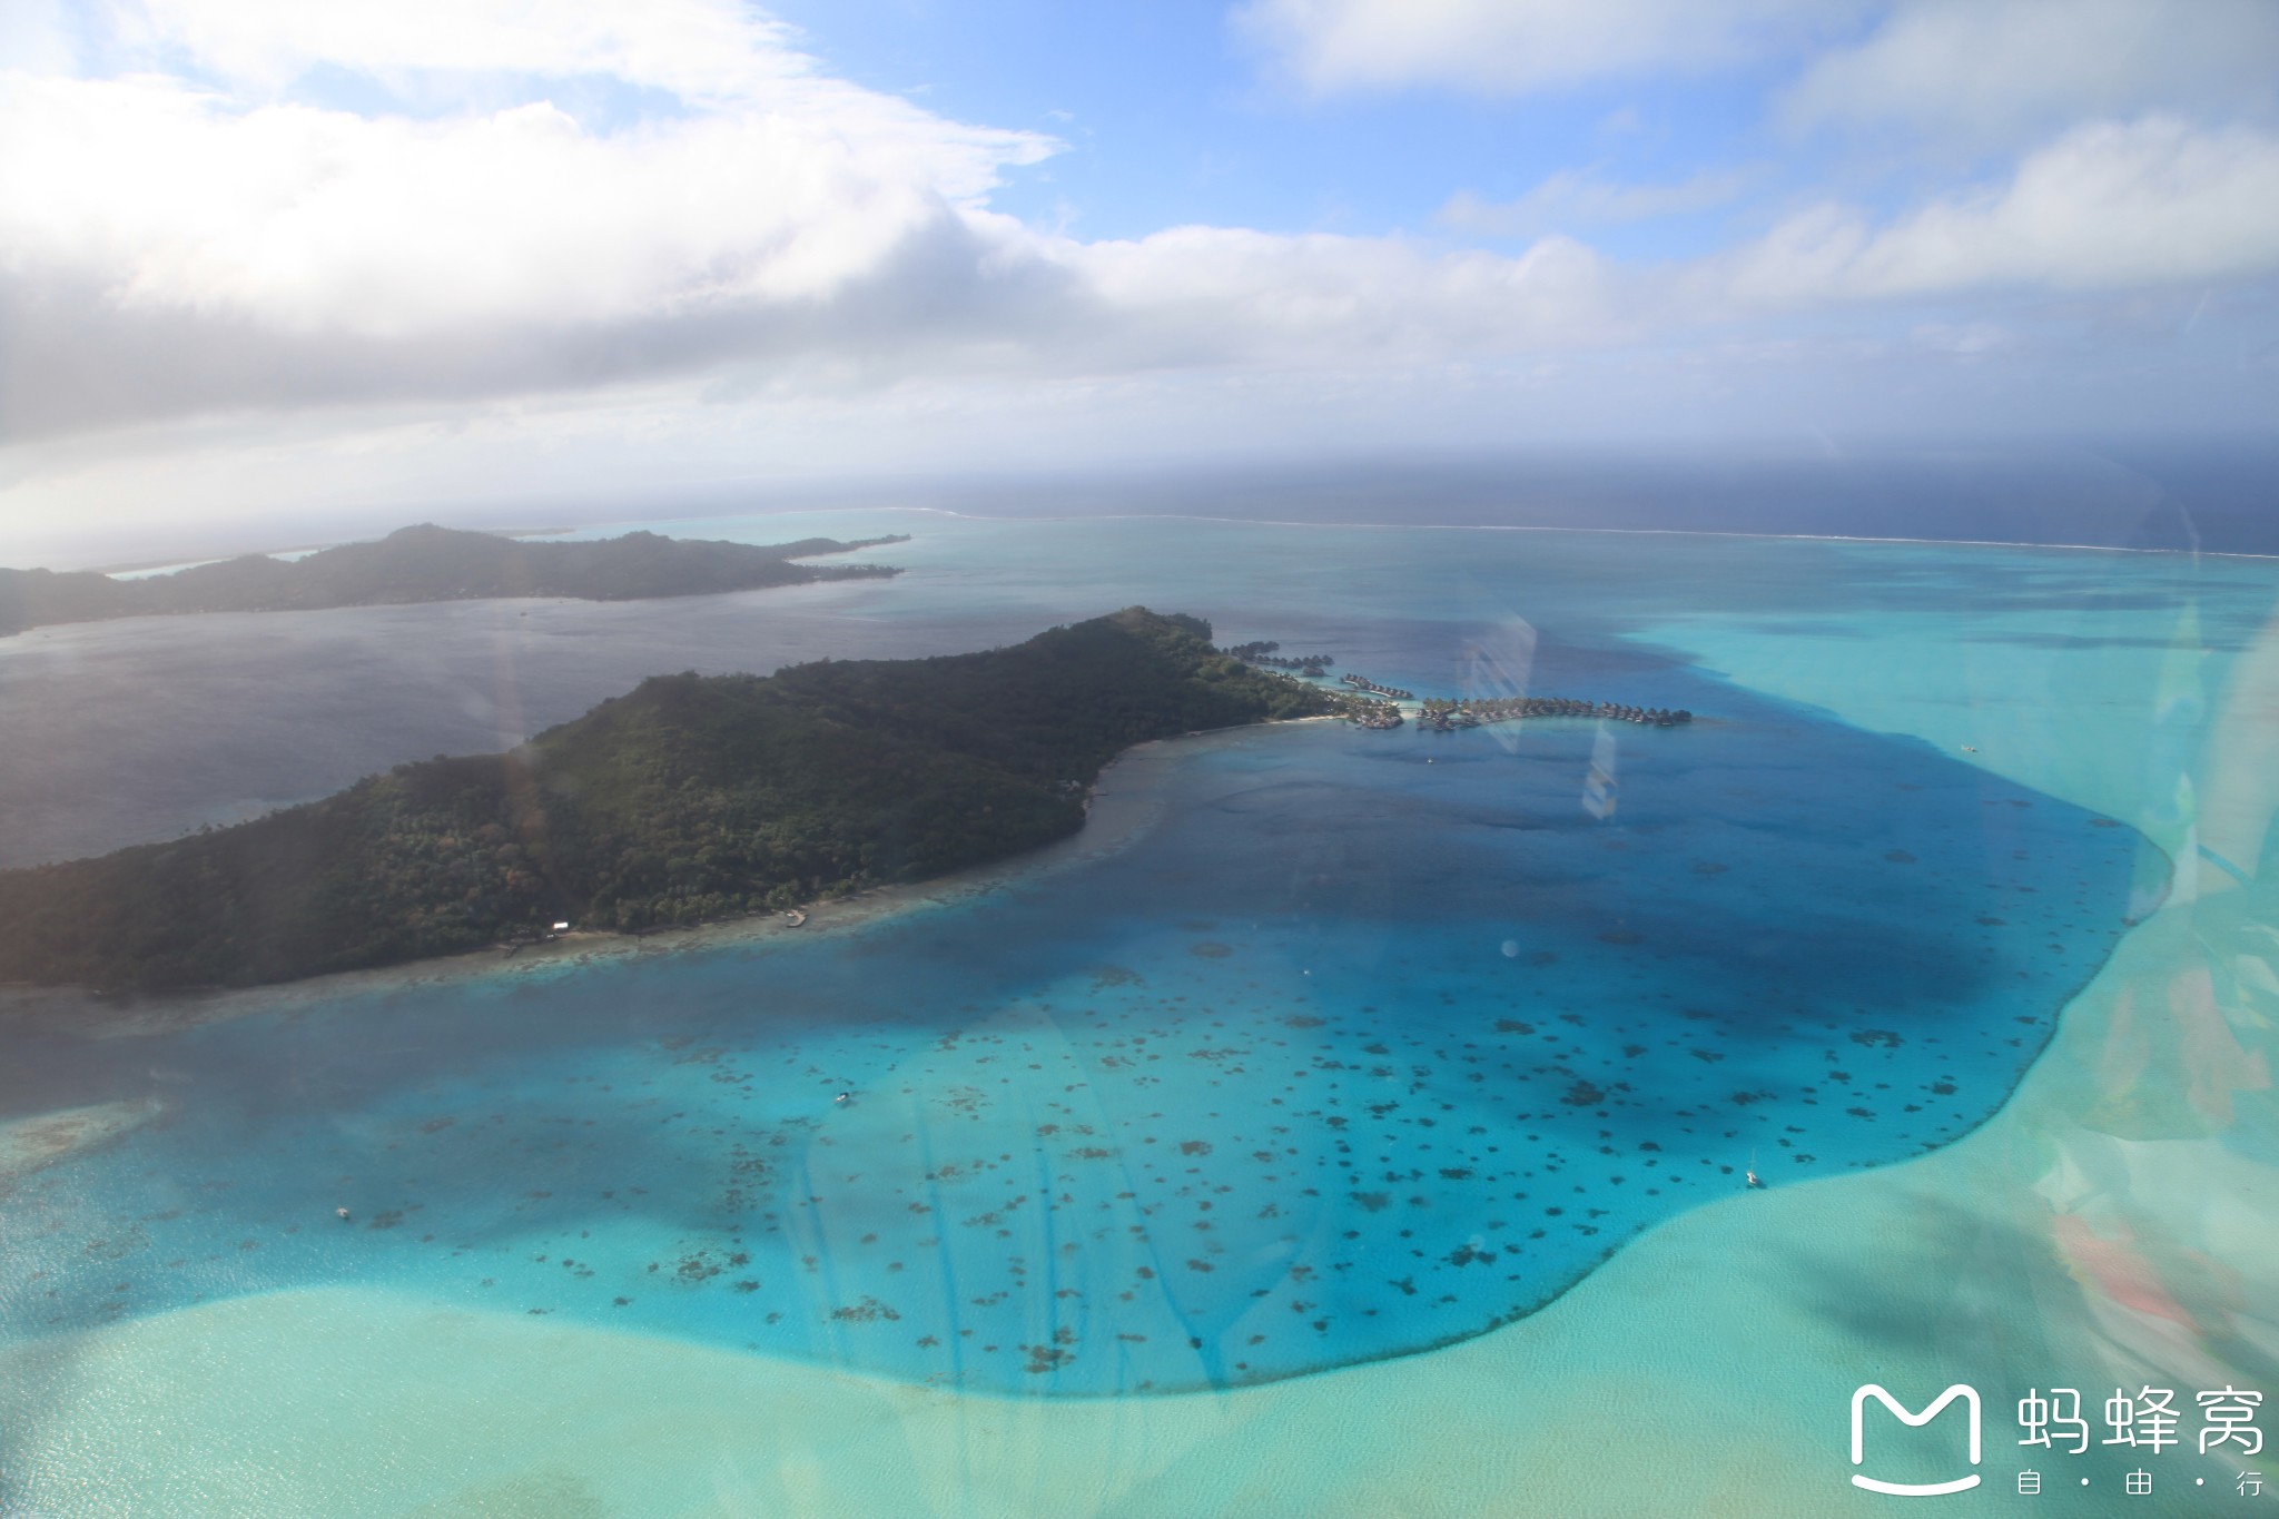
<path id="1" fill-rule="evenodd" d="M 1707 642 L 1689 647 L 1750 685 L 1958 742 L 1903 695 L 1860 692 L 1857 651 L 1812 667 Z M 1958 649 L 1926 619 L 1892 629 L 1878 663 L 1914 660 L 1928 683 Z M 2147 818 L 2124 715 L 2065 747 L 2031 704 L 1960 720 L 1978 763 Z M 55 1517 L 1816 1517 L 1889 1510 L 1846 1485 L 1853 1387 L 1921 1405 L 1967 1380 L 1987 1396 L 1987 1485 L 1939 1512 L 2008 1508 L 2008 1401 L 2028 1387 L 2270 1387 L 2279 1191 L 2247 1150 L 2270 1152 L 2279 893 L 2206 886 L 2179 879 L 1969 1139 L 1682 1214 L 1541 1314 L 1429 1355 L 1231 1394 L 1016 1403 L 289 1291 L 0 1355 L 9 1469 L 30 1473 L 0 1496 Z M 2206 1512 L 2176 1494 L 2206 1476 L 2229 1496 L 2236 1464 L 2170 1451 L 2160 1499 L 2069 1512 Z"/>

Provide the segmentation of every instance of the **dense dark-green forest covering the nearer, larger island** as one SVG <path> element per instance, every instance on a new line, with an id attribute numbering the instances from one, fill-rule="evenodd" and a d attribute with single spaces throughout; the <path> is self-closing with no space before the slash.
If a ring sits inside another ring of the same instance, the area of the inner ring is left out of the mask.
<path id="1" fill-rule="evenodd" d="M 656 676 L 513 754 L 0 872 L 0 982 L 244 986 L 923 879 L 1076 831 L 1133 742 L 1335 706 L 1146 608 L 987 654 Z"/>

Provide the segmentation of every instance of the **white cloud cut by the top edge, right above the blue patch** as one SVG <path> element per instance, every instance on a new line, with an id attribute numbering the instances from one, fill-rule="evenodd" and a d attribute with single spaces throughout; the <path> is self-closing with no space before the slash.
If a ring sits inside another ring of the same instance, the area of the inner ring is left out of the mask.
<path id="1" fill-rule="evenodd" d="M 1235 27 L 1301 87 L 1513 96 L 1702 73 L 1851 25 L 1857 0 L 1249 0 Z"/>

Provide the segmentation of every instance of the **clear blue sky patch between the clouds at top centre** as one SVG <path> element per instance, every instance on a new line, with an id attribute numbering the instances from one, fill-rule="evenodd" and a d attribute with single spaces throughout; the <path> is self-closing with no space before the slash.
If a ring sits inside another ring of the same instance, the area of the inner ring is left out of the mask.
<path id="1" fill-rule="evenodd" d="M 1762 189 L 1812 182 L 1810 143 L 1762 141 L 1778 66 L 1737 68 L 1675 89 L 1579 80 L 1550 96 L 1481 98 L 1431 89 L 1310 96 L 1265 77 L 1265 50 L 1228 7 L 994 5 L 832 0 L 777 7 L 807 43 L 873 89 L 969 121 L 1048 132 L 1053 159 L 1014 175 L 994 203 L 1067 221 L 1085 237 L 1146 237 L 1167 225 L 1249 225 L 1525 244 L 1525 235 L 1447 228 L 1459 191 L 1516 200 L 1559 171 L 1595 166 L 1625 182 L 1680 184 L 1748 166 Z M 1620 225 L 1602 246 L 1632 257 L 1707 251 L 1732 205 Z"/>

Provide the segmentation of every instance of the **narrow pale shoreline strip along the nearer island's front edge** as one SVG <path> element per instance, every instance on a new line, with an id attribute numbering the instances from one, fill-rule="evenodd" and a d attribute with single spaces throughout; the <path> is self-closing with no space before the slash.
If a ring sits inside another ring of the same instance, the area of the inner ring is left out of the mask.
<path id="1" fill-rule="evenodd" d="M 1146 767 L 1155 761 L 1176 761 L 1169 745 L 1192 745 L 1194 740 L 1224 740 L 1228 733 L 1258 733 L 1272 729 L 1297 729 L 1317 722 L 1342 722 L 1333 715 L 1279 717 L 1267 722 L 1244 722 L 1226 729 L 1196 729 L 1171 738 L 1149 738 L 1119 752 L 1085 790 L 1085 822 L 1076 834 L 1057 838 L 1037 849 L 1012 854 L 982 865 L 966 865 L 925 881 L 898 881 L 871 886 L 846 897 L 820 897 L 800 902 L 795 909 L 804 922 L 789 922 L 786 913 L 752 913 L 745 918 L 722 918 L 688 927 L 656 929 L 650 934 L 620 934 L 613 929 L 572 929 L 556 941 L 540 945 L 490 945 L 463 954 L 401 961 L 397 966 L 371 966 L 365 970 L 335 970 L 330 975 L 299 982 L 276 982 L 271 986 L 235 986 L 217 991 L 157 991 L 105 995 L 84 986 L 23 986 L 0 984 L 0 1032 L 23 1027 L 41 1034 L 71 1034 L 77 1038 L 155 1038 L 194 1029 L 207 1023 L 251 1018 L 258 1013 L 299 1013 L 319 1002 L 340 997 L 367 997 L 419 986 L 447 986 L 481 979 L 545 977 L 581 970 L 595 963 L 627 959 L 636 954 L 679 954 L 702 950 L 725 950 L 732 945 L 770 945 L 786 938 L 834 938 L 857 934 L 871 925 L 898 918 L 928 906 L 950 906 L 971 902 L 994 890 L 1067 870 L 1096 859 L 1119 854 L 1142 838 L 1162 815 L 1160 788 Z M 1121 781 L 1110 786 L 1110 779 Z M 1130 781 L 1140 781 L 1133 786 Z"/>

